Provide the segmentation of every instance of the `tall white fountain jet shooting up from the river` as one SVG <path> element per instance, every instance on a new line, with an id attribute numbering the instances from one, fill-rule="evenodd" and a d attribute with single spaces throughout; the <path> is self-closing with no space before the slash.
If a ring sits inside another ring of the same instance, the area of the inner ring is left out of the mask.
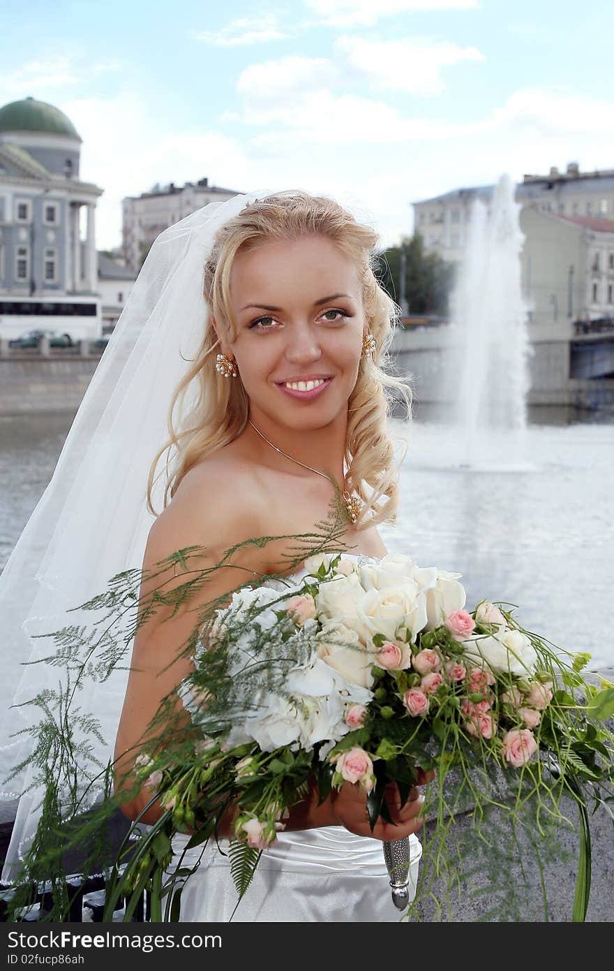
<path id="1" fill-rule="evenodd" d="M 464 466 L 526 468 L 529 376 L 527 307 L 521 291 L 520 206 L 502 176 L 489 209 L 476 200 L 465 257 L 451 298 L 448 374 Z"/>

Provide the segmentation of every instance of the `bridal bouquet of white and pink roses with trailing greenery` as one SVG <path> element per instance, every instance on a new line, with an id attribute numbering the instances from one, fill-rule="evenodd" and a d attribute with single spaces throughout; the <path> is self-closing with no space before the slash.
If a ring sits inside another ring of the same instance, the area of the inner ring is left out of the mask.
<path id="1" fill-rule="evenodd" d="M 318 553 L 301 572 L 237 589 L 199 628 L 193 673 L 178 688 L 187 724 L 174 739 L 152 736 L 136 760 L 148 806 L 163 812 L 152 826 L 137 821 L 113 863 L 105 920 L 123 899 L 130 920 L 144 889 L 152 920 L 177 919 L 194 869 L 182 859 L 171 868 L 178 832 L 190 834 L 185 855 L 232 813 L 241 899 L 314 779 L 322 800 L 344 783 L 362 787 L 373 826 L 391 821 L 387 784 L 404 802 L 429 771 L 423 814 L 433 825 L 407 917 L 420 919 L 428 901 L 440 915 L 479 875 L 498 897 L 487 916 L 521 920 L 527 887 L 510 859 L 523 835 L 540 868 L 552 858 L 557 829 L 572 825 L 570 799 L 580 820 L 573 920 L 583 920 L 589 802 L 606 805 L 614 780 L 614 686 L 583 679 L 589 655 L 562 659 L 503 603 L 468 611 L 459 574 L 405 555 L 360 563 Z M 461 835 L 454 823 L 468 819 Z"/>

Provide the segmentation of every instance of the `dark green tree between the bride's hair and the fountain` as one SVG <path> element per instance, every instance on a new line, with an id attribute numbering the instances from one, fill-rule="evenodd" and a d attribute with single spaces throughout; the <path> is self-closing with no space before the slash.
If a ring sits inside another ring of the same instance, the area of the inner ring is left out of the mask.
<path id="1" fill-rule="evenodd" d="M 411 238 L 404 237 L 400 246 L 390 247 L 381 253 L 379 283 L 393 300 L 399 302 L 402 299 L 402 248 L 408 313 L 445 316 L 448 312 L 454 267 L 446 263 L 438 253 L 425 252 L 424 240 L 419 233 Z"/>

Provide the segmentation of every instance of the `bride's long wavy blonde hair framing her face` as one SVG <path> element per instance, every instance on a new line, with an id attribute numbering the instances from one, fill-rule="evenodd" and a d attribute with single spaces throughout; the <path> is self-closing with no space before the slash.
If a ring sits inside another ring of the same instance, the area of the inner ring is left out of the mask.
<path id="1" fill-rule="evenodd" d="M 215 370 L 214 351 L 219 341 L 212 325 L 212 319 L 224 320 L 234 340 L 237 322 L 230 300 L 230 275 L 237 252 L 268 240 L 293 240 L 313 234 L 328 237 L 356 259 L 368 332 L 376 345 L 372 357 L 361 358 L 356 385 L 348 400 L 343 489 L 356 492 L 365 503 L 357 528 L 395 519 L 399 473 L 393 442 L 386 431 L 395 391 L 404 401 L 407 418 L 411 416 L 410 385 L 392 374 L 389 358 L 399 308 L 377 283 L 373 272 L 378 240 L 374 230 L 357 222 L 333 199 L 303 191 L 279 192 L 249 203 L 216 233 L 204 268 L 209 314 L 203 341 L 173 396 L 169 440 L 157 453 L 149 472 L 147 504 L 154 515 L 151 492 L 164 452 L 168 452 L 166 507 L 186 473 L 210 452 L 234 441 L 247 423 L 249 401 L 241 379 L 229 380 Z M 183 427 L 178 428 L 174 415 L 176 410 L 183 414 L 181 406 L 188 396 L 190 405 L 181 422 Z"/>

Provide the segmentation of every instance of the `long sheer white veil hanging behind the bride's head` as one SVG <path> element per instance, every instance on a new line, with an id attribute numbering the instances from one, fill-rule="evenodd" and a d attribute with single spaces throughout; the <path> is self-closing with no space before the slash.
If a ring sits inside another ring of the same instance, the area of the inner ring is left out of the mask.
<path id="1" fill-rule="evenodd" d="M 50 653 L 48 634 L 91 624 L 91 612 L 66 611 L 103 592 L 113 575 L 140 569 L 153 517 L 146 509 L 150 464 L 167 439 L 173 392 L 198 350 L 207 304 L 203 270 L 217 228 L 266 191 L 210 203 L 166 229 L 155 241 L 113 336 L 81 402 L 53 477 L 0 577 L 0 799 L 19 799 L 2 880 L 11 883 L 30 845 L 42 791 L 26 766 L 9 774 L 34 747 L 16 734 L 38 720 L 24 705 L 57 687 L 58 668 L 27 665 Z M 154 507 L 161 508 L 158 480 Z M 92 756 L 104 764 L 113 743 L 127 680 L 115 670 L 104 683 L 88 680 L 79 706 L 100 722 L 105 745 Z M 16 707 L 21 705 L 22 707 Z M 101 785 L 102 789 L 102 785 Z M 92 791 L 93 802 L 99 792 Z"/>

